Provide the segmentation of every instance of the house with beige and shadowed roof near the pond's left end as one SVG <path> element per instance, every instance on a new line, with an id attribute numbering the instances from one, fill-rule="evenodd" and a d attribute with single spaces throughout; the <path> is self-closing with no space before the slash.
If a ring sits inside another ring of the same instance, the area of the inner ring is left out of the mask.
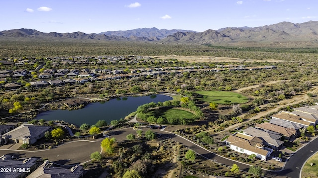
<path id="1" fill-rule="evenodd" d="M 33 144 L 38 139 L 44 137 L 44 133 L 50 130 L 50 126 L 37 126 L 32 124 L 22 124 L 21 126 L 7 132 L 4 136 L 15 143 L 28 143 Z"/>

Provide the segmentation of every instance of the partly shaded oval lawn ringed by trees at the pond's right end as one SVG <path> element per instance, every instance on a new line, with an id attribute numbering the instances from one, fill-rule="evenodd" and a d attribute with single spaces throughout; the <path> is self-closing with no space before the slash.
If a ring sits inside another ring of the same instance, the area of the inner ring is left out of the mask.
<path id="1" fill-rule="evenodd" d="M 175 118 L 193 118 L 195 115 L 191 112 L 179 110 L 179 109 L 158 109 L 148 112 L 149 115 L 154 115 L 156 118 L 158 117 L 175 117 Z"/>

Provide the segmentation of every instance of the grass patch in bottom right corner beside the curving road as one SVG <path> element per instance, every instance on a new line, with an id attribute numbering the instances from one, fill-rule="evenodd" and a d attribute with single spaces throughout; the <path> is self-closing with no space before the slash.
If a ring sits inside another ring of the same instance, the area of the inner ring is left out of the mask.
<path id="1" fill-rule="evenodd" d="M 314 163 L 310 166 L 310 163 Z M 318 153 L 312 156 L 304 165 L 302 178 L 318 178 Z"/>

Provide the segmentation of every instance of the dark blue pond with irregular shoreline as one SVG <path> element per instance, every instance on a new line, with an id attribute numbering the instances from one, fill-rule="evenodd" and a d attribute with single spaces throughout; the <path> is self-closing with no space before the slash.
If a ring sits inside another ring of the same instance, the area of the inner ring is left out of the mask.
<path id="1" fill-rule="evenodd" d="M 63 120 L 77 126 L 87 123 L 94 125 L 98 120 L 105 120 L 108 124 L 112 120 L 125 118 L 131 112 L 136 111 L 138 106 L 150 102 L 164 102 L 172 100 L 172 97 L 165 95 L 150 95 L 138 97 L 120 97 L 106 102 L 90 103 L 79 110 L 51 110 L 40 113 L 35 119 Z"/>

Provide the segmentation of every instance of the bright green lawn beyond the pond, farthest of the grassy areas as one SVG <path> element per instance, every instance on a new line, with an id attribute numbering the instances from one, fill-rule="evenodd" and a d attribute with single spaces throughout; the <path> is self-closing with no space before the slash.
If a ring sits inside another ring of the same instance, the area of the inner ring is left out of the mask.
<path id="1" fill-rule="evenodd" d="M 241 95 L 235 92 L 228 92 L 228 91 L 196 91 L 195 93 L 199 94 L 199 97 L 197 99 L 205 101 L 205 102 L 209 102 L 209 103 L 213 103 L 213 102 L 218 104 L 246 103 L 249 100 L 244 95 Z"/>

